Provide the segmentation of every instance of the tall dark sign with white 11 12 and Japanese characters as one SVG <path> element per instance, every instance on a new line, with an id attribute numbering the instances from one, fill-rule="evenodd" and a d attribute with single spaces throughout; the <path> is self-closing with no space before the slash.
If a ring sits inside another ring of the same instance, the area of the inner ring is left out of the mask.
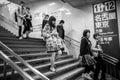
<path id="1" fill-rule="evenodd" d="M 100 41 L 104 53 L 120 58 L 116 1 L 93 4 L 93 15 L 95 32 L 102 35 Z"/>

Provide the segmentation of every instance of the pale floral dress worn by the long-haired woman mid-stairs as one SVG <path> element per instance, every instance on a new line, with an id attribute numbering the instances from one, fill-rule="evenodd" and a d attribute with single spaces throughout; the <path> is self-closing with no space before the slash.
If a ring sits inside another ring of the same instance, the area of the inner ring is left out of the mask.
<path id="1" fill-rule="evenodd" d="M 62 39 L 59 38 L 56 29 L 50 31 L 49 24 L 46 24 L 43 29 L 43 38 L 46 41 L 48 52 L 57 52 L 61 49 Z"/>

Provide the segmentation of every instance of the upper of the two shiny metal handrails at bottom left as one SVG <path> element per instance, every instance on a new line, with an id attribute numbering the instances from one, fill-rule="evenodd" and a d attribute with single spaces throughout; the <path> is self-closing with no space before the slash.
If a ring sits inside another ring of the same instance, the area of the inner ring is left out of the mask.
<path id="1" fill-rule="evenodd" d="M 33 68 L 30 64 L 25 62 L 20 56 L 18 56 L 12 49 L 7 47 L 4 43 L 0 41 L 0 46 L 2 46 L 6 51 L 8 51 L 11 55 L 13 55 L 16 59 L 18 59 L 20 62 L 22 62 L 25 66 L 27 66 L 34 74 L 39 76 L 42 80 L 49 80 L 45 75 L 43 75 L 41 72 L 39 72 L 37 69 Z"/>

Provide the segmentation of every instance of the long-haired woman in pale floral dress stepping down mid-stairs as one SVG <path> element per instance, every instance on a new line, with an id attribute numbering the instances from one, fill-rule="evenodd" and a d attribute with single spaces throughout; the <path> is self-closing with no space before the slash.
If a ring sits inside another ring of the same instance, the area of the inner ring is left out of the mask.
<path id="1" fill-rule="evenodd" d="M 50 67 L 50 70 L 52 71 L 55 71 L 54 63 L 55 63 L 56 54 L 62 53 L 61 52 L 62 40 L 58 36 L 55 23 L 56 23 L 56 18 L 54 16 L 51 16 L 49 18 L 48 23 L 45 25 L 43 29 L 43 37 L 44 40 L 46 41 L 47 52 L 52 53 L 51 67 Z"/>

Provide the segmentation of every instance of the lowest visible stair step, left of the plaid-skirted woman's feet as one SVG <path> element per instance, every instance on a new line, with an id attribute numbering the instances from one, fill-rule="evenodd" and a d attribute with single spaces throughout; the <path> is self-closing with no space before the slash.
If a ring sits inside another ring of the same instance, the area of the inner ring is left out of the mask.
<path id="1" fill-rule="evenodd" d="M 69 72 L 67 72 L 67 73 L 65 73 L 63 75 L 60 75 L 60 76 L 58 76 L 58 77 L 56 77 L 56 78 L 54 78 L 52 80 L 73 80 L 73 79 L 70 79 L 70 78 L 73 77 L 76 74 L 80 75 L 80 73 L 82 73 L 83 71 L 84 71 L 83 67 L 75 68 L 75 69 L 73 69 L 73 70 L 71 70 L 71 71 L 69 71 Z"/>

